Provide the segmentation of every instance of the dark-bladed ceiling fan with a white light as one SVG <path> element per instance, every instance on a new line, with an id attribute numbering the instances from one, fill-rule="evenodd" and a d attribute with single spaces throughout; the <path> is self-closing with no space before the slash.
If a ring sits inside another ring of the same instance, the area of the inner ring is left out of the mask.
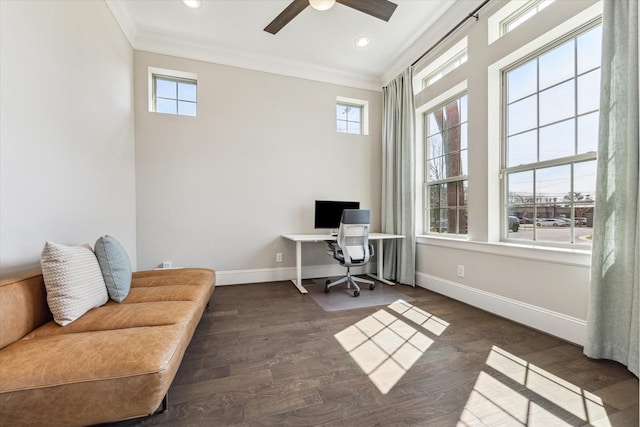
<path id="1" fill-rule="evenodd" d="M 327 10 L 336 2 L 383 21 L 389 21 L 398 6 L 388 0 L 293 0 L 264 30 L 276 34 L 307 6 L 311 5 L 317 10 Z"/>

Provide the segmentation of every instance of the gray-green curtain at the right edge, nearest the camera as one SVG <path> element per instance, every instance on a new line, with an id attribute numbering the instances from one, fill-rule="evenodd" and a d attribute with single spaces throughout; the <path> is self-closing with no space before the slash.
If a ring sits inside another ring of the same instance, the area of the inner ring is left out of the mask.
<path id="1" fill-rule="evenodd" d="M 609 0 L 602 16 L 602 84 L 591 294 L 584 353 L 638 376 L 638 2 Z"/>

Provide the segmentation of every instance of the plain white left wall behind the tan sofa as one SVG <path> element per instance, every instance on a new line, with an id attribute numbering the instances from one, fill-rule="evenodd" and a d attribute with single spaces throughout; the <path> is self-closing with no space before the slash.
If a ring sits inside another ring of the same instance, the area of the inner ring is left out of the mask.
<path id="1" fill-rule="evenodd" d="M 104 2 L 0 1 L 0 276 L 45 241 L 136 265 L 133 50 Z"/>

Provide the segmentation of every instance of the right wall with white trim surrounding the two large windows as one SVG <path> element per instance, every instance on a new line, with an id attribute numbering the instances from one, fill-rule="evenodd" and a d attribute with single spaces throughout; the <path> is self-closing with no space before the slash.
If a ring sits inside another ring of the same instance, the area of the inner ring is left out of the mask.
<path id="1" fill-rule="evenodd" d="M 557 1 L 494 43 L 488 18 L 507 1 L 491 2 L 447 43 L 419 64 L 426 66 L 467 36 L 469 60 L 416 96 L 425 106 L 448 88 L 466 85 L 469 98 L 469 230 L 465 239 L 418 238 L 417 283 L 472 305 L 582 343 L 589 298 L 587 251 L 500 242 L 500 69 L 558 37 L 593 0 Z M 419 120 L 422 116 L 419 115 Z M 421 223 L 421 221 L 418 221 Z M 457 267 L 465 267 L 464 278 Z M 446 320 L 446 319 L 445 319 Z"/>

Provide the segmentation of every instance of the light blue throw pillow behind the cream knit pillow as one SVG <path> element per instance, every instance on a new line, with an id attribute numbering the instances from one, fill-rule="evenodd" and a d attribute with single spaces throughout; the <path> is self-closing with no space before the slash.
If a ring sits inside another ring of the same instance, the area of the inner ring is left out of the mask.
<path id="1" fill-rule="evenodd" d="M 131 261 L 124 247 L 111 236 L 102 236 L 94 248 L 109 298 L 122 302 L 131 289 Z"/>

